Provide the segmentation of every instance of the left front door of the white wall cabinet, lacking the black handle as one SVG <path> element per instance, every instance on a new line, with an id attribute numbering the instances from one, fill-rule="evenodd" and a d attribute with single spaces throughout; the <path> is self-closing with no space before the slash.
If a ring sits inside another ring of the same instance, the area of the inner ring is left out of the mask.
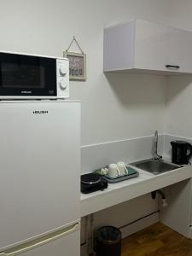
<path id="1" fill-rule="evenodd" d="M 171 31 L 169 26 L 137 20 L 134 67 L 166 71 Z"/>

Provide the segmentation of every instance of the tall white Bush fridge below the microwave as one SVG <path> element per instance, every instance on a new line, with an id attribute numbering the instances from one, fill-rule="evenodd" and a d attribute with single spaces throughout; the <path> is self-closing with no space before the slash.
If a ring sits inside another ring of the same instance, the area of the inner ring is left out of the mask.
<path id="1" fill-rule="evenodd" d="M 0 255 L 80 255 L 80 102 L 0 102 Z"/>

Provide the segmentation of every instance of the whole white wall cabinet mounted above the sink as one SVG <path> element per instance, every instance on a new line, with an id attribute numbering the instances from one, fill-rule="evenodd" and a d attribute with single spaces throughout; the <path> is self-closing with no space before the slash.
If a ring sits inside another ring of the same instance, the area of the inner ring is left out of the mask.
<path id="1" fill-rule="evenodd" d="M 192 32 L 146 20 L 104 29 L 103 70 L 192 73 Z"/>

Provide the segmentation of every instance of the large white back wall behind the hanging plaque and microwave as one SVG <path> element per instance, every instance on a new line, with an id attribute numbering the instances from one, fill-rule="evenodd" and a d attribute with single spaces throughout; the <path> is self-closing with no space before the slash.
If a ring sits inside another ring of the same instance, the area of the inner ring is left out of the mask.
<path id="1" fill-rule="evenodd" d="M 71 82 L 82 101 L 82 144 L 163 131 L 165 78 L 102 73 L 103 27 L 134 17 L 166 23 L 167 0 L 0 0 L 0 49 L 62 55 L 73 35 L 87 54 L 87 81 Z"/>

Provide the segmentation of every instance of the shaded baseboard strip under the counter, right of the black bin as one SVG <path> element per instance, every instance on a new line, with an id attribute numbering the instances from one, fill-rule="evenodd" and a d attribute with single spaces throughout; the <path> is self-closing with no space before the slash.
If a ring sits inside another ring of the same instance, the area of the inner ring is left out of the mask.
<path id="1" fill-rule="evenodd" d="M 139 219 L 137 220 L 137 222 L 134 222 L 132 224 L 127 224 L 123 228 L 120 228 L 122 233 L 122 238 L 125 238 L 126 236 L 130 236 L 131 234 L 134 234 L 139 230 L 143 230 L 148 226 L 155 224 L 159 221 L 160 221 L 160 213 L 154 212 L 154 214 L 151 214 L 145 218 Z"/>

